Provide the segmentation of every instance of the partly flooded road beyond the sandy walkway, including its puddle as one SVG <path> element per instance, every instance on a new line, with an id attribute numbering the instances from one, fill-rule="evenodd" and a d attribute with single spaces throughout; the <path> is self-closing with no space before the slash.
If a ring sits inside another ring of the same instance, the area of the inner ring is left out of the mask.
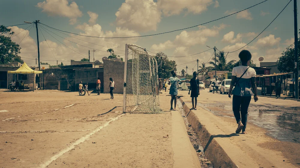
<path id="1" fill-rule="evenodd" d="M 208 89 L 201 90 L 199 106 L 212 113 L 234 117 L 232 99 L 228 94 L 213 94 Z M 267 129 L 268 135 L 283 141 L 300 143 L 300 102 L 269 97 L 259 97 L 258 102 L 251 100 L 248 122 Z"/>

